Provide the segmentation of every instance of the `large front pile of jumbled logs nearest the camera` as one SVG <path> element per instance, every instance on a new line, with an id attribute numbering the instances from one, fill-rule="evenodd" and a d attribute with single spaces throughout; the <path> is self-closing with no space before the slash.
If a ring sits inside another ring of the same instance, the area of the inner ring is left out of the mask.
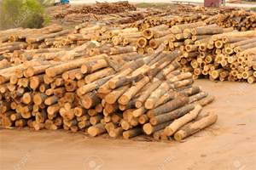
<path id="1" fill-rule="evenodd" d="M 179 70 L 180 50 L 166 52 L 162 44 L 154 54 L 137 54 L 134 47 L 104 48 L 92 57 L 76 53 L 91 43 L 80 51 L 38 52 L 26 65 L 0 70 L 2 127 L 181 140 L 217 121 L 214 112 L 198 116 L 214 97 Z"/>

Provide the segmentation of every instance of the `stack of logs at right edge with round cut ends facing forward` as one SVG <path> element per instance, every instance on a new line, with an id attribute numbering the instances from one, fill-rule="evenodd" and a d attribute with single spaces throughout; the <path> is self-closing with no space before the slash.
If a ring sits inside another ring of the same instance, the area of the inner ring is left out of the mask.
<path id="1" fill-rule="evenodd" d="M 256 31 L 238 32 L 210 25 L 189 32 L 183 33 L 183 37 L 190 34 L 183 42 L 169 42 L 169 47 L 183 44 L 179 48 L 183 48 L 180 63 L 184 72 L 194 72 L 195 79 L 208 77 L 211 81 L 255 82 Z"/>

